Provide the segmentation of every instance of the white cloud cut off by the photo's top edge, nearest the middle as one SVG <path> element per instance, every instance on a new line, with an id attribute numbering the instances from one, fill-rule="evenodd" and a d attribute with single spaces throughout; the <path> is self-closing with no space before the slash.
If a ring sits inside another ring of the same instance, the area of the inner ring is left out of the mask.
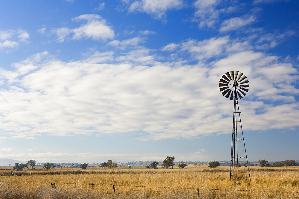
<path id="1" fill-rule="evenodd" d="M 141 0 L 132 2 L 129 7 L 129 12 L 145 12 L 156 19 L 165 19 L 167 10 L 178 10 L 181 9 L 182 6 L 182 0 Z"/>

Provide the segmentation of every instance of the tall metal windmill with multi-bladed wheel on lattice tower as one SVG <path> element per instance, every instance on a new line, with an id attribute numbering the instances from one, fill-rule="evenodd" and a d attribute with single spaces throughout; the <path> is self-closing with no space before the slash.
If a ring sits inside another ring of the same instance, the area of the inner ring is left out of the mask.
<path id="1" fill-rule="evenodd" d="M 219 80 L 220 92 L 226 98 L 234 101 L 233 132 L 231 139 L 231 171 L 230 180 L 245 180 L 250 182 L 248 160 L 242 130 L 241 116 L 239 111 L 239 99 L 248 92 L 249 81 L 239 71 L 230 71 L 222 75 Z M 247 165 L 247 169 L 240 168 L 241 164 Z"/>

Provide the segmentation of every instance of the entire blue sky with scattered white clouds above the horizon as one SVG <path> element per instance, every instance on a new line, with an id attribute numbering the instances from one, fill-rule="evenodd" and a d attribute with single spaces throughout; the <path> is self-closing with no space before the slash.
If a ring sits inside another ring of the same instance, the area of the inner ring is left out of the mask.
<path id="1" fill-rule="evenodd" d="M 231 70 L 248 161 L 299 159 L 296 0 L 0 2 L 0 158 L 229 160 Z"/>

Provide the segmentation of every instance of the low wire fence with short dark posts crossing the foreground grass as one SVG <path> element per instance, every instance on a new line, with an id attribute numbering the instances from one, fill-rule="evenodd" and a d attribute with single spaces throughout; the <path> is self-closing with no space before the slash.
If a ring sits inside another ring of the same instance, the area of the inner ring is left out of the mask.
<path id="1" fill-rule="evenodd" d="M 68 190 L 82 190 L 87 192 L 113 195 L 184 195 L 189 198 L 299 198 L 298 192 L 265 191 L 265 190 L 238 190 L 238 189 L 207 189 L 188 187 L 159 187 L 138 185 L 113 185 L 113 184 L 91 184 L 91 183 L 34 183 L 34 182 L 2 182 L 2 185 L 10 186 L 10 189 L 22 189 L 34 191 L 36 187 L 44 186 L 52 190 L 67 192 Z M 264 197 L 263 197 L 264 196 Z"/>

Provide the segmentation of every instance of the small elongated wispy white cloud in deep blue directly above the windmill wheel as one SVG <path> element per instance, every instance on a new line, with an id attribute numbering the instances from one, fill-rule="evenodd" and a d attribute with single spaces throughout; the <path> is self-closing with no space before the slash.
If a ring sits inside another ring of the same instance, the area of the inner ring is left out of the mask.
<path id="1" fill-rule="evenodd" d="M 242 17 L 234 17 L 222 22 L 220 31 L 238 30 L 240 27 L 249 25 L 256 21 L 253 15 L 244 15 Z"/>

